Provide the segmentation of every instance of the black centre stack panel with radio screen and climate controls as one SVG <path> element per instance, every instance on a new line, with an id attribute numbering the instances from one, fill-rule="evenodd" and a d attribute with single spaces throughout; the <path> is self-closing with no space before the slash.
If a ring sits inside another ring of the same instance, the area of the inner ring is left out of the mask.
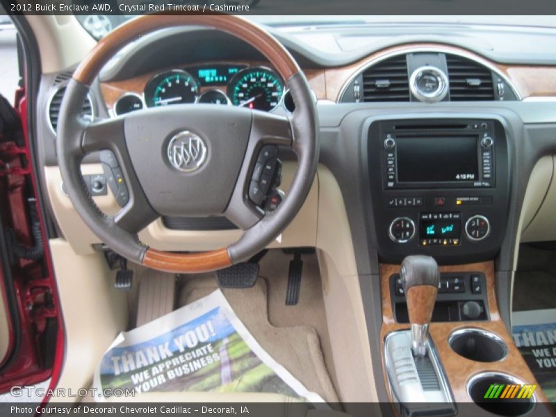
<path id="1" fill-rule="evenodd" d="M 368 130 L 375 245 L 383 261 L 492 259 L 509 207 L 505 129 L 493 119 L 381 120 Z"/>

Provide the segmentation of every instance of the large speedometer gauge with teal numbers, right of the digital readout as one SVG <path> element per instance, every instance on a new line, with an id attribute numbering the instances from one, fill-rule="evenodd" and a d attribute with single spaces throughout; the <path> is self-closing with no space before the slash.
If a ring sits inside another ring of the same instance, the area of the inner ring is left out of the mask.
<path id="1" fill-rule="evenodd" d="M 242 70 L 228 84 L 228 97 L 234 106 L 270 111 L 283 94 L 284 83 L 280 76 L 264 67 Z"/>

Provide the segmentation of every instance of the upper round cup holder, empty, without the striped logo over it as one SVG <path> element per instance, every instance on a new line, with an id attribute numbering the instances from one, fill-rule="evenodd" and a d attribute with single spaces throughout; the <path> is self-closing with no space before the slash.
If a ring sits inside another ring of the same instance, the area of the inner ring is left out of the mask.
<path id="1" fill-rule="evenodd" d="M 481 329 L 456 330 L 448 343 L 454 352 L 471 361 L 496 362 L 507 354 L 506 344 L 500 337 Z"/>

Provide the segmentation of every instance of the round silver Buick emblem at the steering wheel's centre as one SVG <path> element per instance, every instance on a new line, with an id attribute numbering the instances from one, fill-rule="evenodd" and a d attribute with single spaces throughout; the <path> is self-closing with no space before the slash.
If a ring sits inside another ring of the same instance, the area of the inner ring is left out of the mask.
<path id="1" fill-rule="evenodd" d="M 168 161 L 183 172 L 198 170 L 206 160 L 206 152 L 204 140 L 190 131 L 178 133 L 167 147 Z"/>

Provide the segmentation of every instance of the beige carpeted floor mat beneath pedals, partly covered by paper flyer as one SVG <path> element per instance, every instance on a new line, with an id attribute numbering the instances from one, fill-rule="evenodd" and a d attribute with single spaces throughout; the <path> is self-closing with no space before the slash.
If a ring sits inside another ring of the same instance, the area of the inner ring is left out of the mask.
<path id="1" fill-rule="evenodd" d="M 178 289 L 178 306 L 198 300 L 217 288 L 218 284 L 213 275 L 183 277 L 181 288 Z M 267 281 L 259 278 L 253 288 L 222 288 L 222 292 L 245 327 L 273 359 L 284 366 L 309 391 L 318 393 L 327 402 L 338 402 L 338 396 L 325 366 L 316 329 L 307 325 L 271 325 L 268 320 L 267 288 Z M 287 309 L 284 301 L 281 309 Z"/>

